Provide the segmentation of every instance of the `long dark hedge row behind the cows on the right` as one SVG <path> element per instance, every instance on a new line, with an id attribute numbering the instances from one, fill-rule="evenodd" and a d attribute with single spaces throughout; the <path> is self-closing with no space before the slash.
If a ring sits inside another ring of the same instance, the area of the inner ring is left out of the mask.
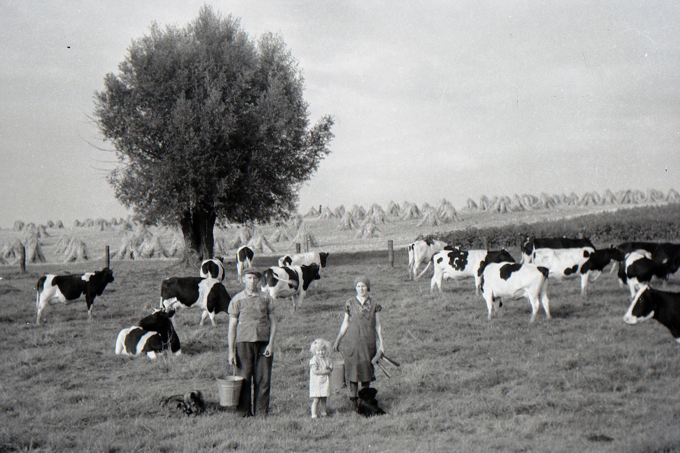
<path id="1" fill-rule="evenodd" d="M 624 241 L 680 241 L 680 204 L 634 207 L 532 224 L 468 228 L 428 235 L 462 248 L 520 246 L 528 236 L 589 237 L 598 247 Z"/>

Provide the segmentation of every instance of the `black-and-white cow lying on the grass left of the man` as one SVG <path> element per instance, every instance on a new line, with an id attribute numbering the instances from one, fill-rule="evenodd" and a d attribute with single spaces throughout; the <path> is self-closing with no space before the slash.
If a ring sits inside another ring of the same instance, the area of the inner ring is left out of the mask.
<path id="1" fill-rule="evenodd" d="M 116 354 L 126 356 L 139 356 L 146 354 L 148 358 L 156 358 L 169 349 L 173 354 L 182 354 L 180 338 L 177 337 L 175 327 L 172 325 L 174 310 L 164 312 L 157 309 L 155 312 L 141 318 L 139 326 L 131 326 L 118 333 L 116 339 Z"/>

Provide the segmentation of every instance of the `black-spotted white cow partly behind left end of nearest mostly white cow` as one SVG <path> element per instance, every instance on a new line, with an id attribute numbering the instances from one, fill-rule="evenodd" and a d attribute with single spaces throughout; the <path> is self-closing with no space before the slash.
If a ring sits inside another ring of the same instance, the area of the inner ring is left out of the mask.
<path id="1" fill-rule="evenodd" d="M 430 280 L 430 292 L 435 289 L 435 285 L 441 292 L 442 280 L 461 279 L 467 277 L 475 278 L 475 295 L 479 294 L 479 280 L 481 279 L 481 271 L 484 266 L 489 263 L 500 263 L 501 261 L 509 261 L 515 263 L 515 258 L 505 250 L 460 250 L 454 248 L 453 250 L 441 250 L 432 255 L 433 266 L 435 273 Z M 429 265 L 428 265 L 429 267 Z M 420 273 L 422 275 L 427 270 L 427 267 Z M 418 278 L 420 278 L 418 275 Z"/>

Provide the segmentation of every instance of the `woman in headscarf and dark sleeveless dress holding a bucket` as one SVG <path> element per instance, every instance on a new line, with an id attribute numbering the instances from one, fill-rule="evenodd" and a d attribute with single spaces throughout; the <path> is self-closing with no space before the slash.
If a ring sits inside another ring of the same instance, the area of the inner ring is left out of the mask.
<path id="1" fill-rule="evenodd" d="M 333 343 L 333 350 L 338 350 L 340 341 L 346 336 L 347 343 L 343 348 L 345 379 L 350 381 L 350 401 L 356 408 L 358 383 L 361 382 L 361 388 L 364 388 L 371 386 L 371 381 L 375 381 L 375 370 L 371 360 L 384 352 L 384 348 L 380 324 L 382 307 L 369 296 L 371 282 L 362 275 L 354 279 L 354 288 L 356 297 L 348 300 L 345 305 L 345 318 Z"/>

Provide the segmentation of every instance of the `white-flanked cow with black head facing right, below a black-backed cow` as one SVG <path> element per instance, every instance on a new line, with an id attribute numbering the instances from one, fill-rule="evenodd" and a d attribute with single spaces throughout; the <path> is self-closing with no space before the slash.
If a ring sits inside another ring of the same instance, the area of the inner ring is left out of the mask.
<path id="1" fill-rule="evenodd" d="M 623 254 L 616 248 L 594 250 L 582 248 L 539 248 L 534 250 L 532 263 L 547 267 L 557 280 L 581 278 L 581 297 L 588 297 L 588 283 L 594 282 L 610 261 L 619 261 Z"/>

